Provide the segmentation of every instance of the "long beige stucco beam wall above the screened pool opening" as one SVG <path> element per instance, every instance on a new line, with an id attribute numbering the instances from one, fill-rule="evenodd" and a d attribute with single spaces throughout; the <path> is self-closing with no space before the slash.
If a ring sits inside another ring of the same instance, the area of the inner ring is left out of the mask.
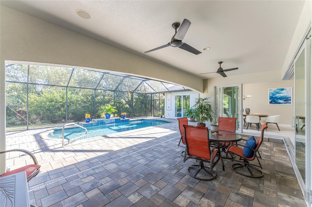
<path id="1" fill-rule="evenodd" d="M 2 60 L 104 69 L 203 91 L 203 80 L 198 77 L 5 6 L 0 8 Z"/>

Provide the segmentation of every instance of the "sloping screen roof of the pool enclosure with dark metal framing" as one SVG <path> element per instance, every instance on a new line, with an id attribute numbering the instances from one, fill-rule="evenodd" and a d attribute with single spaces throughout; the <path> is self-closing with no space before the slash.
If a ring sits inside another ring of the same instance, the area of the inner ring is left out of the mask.
<path id="1" fill-rule="evenodd" d="M 189 90 L 161 81 L 91 69 L 6 64 L 6 82 L 136 93 Z"/>

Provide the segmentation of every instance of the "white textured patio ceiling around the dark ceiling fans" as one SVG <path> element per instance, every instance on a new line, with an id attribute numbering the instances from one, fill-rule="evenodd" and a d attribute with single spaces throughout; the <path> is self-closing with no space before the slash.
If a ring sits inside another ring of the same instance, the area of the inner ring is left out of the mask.
<path id="1" fill-rule="evenodd" d="M 227 76 L 281 69 L 304 1 L 301 0 L 1 0 L 2 5 L 99 41 L 181 69 L 203 79 L 224 61 Z M 91 19 L 76 14 L 91 13 Z M 182 42 L 201 54 L 167 47 L 172 23 L 187 18 Z M 210 47 L 208 51 L 203 48 Z"/>

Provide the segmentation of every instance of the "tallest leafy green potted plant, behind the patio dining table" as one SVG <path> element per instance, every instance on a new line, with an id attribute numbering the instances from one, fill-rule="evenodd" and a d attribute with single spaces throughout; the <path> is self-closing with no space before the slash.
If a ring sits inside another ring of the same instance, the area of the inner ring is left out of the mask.
<path id="1" fill-rule="evenodd" d="M 208 98 L 198 98 L 195 100 L 196 120 L 197 126 L 206 126 L 206 121 L 213 121 L 213 109 L 211 104 L 207 101 Z"/>

